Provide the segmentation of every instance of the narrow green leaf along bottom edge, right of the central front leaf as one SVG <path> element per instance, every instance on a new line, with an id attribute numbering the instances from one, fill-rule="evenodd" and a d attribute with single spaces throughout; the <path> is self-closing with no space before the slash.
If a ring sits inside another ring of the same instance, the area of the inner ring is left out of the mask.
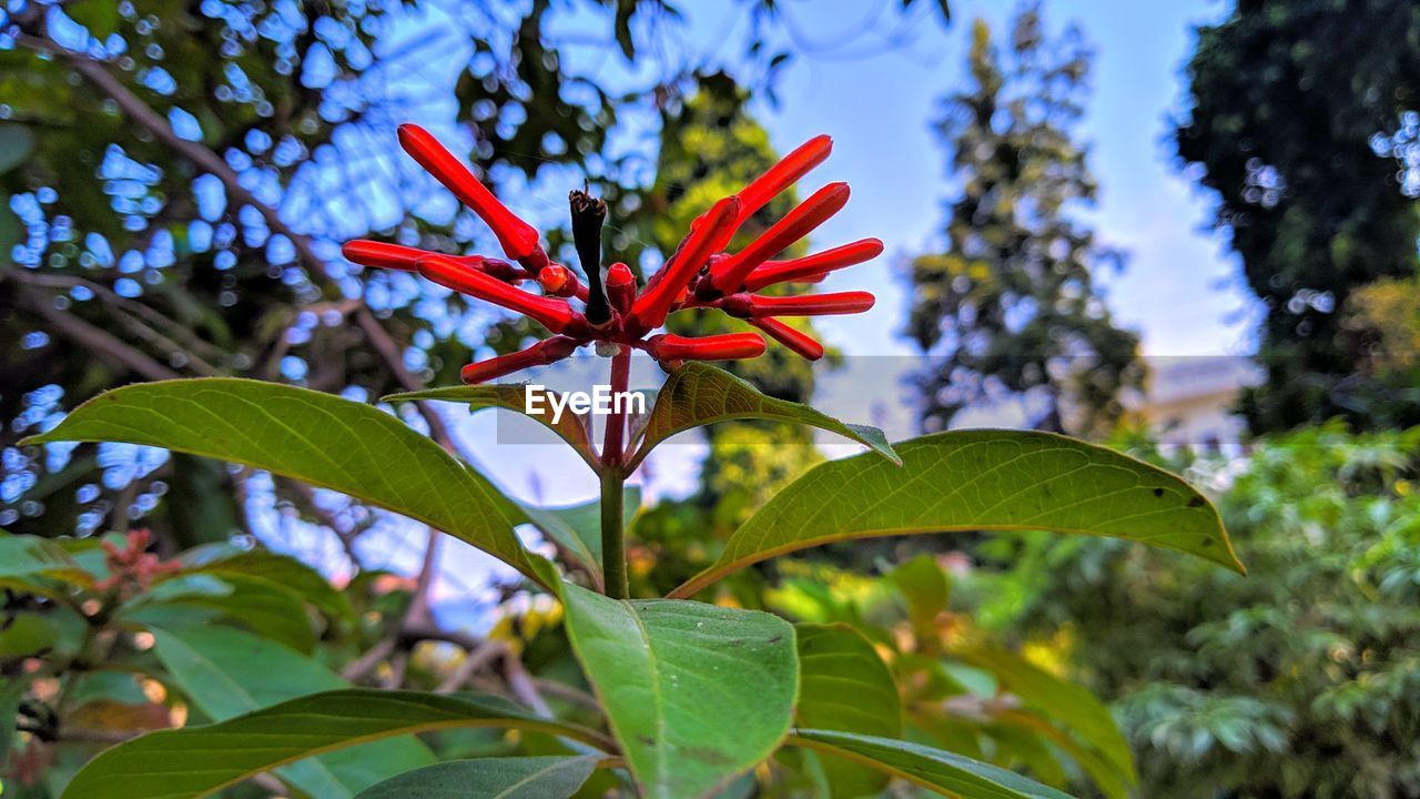
<path id="1" fill-rule="evenodd" d="M 943 796 L 957 799 L 1071 799 L 1068 793 L 1047 788 L 1015 772 L 906 741 L 828 729 L 799 729 L 797 735 L 790 736 L 788 742 L 848 758 Z"/>

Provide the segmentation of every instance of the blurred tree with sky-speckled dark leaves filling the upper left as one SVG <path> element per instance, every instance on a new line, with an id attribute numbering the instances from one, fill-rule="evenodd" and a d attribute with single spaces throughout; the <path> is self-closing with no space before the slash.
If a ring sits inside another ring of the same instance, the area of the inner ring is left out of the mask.
<path id="1" fill-rule="evenodd" d="M 753 23 L 727 57 L 771 81 L 790 61 L 782 11 L 750 0 L 737 13 Z M 605 24 L 552 33 L 568 17 Z M 486 336 L 497 317 L 446 291 L 339 257 L 339 242 L 369 232 L 490 249 L 392 146 L 395 125 L 447 119 L 440 135 L 504 193 L 548 173 L 636 193 L 655 172 L 625 145 L 716 71 L 690 48 L 645 47 L 683 24 L 662 0 L 7 4 L 0 525 L 58 535 L 143 518 L 172 546 L 247 529 L 244 472 L 122 446 L 14 446 L 104 388 L 246 375 L 375 398 L 456 382 L 474 350 L 515 344 L 525 331 Z M 430 408 L 410 421 L 452 445 Z M 352 554 L 375 519 L 274 489 L 260 493 L 334 527 Z"/>

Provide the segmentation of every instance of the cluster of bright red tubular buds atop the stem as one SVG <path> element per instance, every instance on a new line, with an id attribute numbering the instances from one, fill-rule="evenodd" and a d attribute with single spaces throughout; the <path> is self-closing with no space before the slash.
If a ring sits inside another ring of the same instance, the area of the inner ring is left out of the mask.
<path id="1" fill-rule="evenodd" d="M 665 266 L 640 287 L 625 263 L 602 269 L 604 200 L 581 191 L 571 193 L 572 242 L 585 276 L 578 277 L 550 259 L 537 230 L 498 202 L 427 131 L 400 125 L 399 144 L 493 229 L 508 260 L 446 256 L 369 240 L 346 243 L 345 257 L 364 266 L 416 272 L 462 294 L 517 311 L 552 333 L 518 353 L 464 367 L 464 382 L 484 382 L 551 364 L 584 344 L 618 351 L 625 347 L 643 350 L 667 368 L 687 360 L 754 358 L 764 353 L 764 338 L 750 331 L 703 337 L 652 334 L 669 314 L 687 309 L 720 309 L 794 353 L 816 360 L 824 354 L 822 344 L 780 317 L 852 314 L 873 306 L 868 291 L 758 293 L 780 283 L 818 283 L 834 270 L 882 253 L 882 242 L 862 239 L 808 257 L 770 260 L 843 208 L 846 183 L 824 186 L 741 250 L 724 252 L 750 216 L 828 158 L 832 149 L 828 136 L 811 139 L 737 195 L 721 199 L 696 218 Z M 524 289 L 532 283 L 538 287 L 535 293 Z"/>

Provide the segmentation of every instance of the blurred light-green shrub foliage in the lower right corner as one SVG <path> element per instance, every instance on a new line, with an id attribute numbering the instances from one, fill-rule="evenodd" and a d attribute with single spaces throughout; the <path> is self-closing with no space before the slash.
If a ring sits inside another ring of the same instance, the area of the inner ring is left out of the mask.
<path id="1" fill-rule="evenodd" d="M 1339 422 L 1200 462 L 1252 576 L 1031 540 L 995 596 L 1109 699 L 1146 796 L 1417 796 L 1420 429 Z M 1129 624 L 1119 620 L 1127 614 Z"/>

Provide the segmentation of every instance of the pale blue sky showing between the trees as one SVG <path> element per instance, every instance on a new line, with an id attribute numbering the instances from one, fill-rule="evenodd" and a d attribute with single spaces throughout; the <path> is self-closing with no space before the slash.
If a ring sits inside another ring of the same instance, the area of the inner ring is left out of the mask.
<path id="1" fill-rule="evenodd" d="M 849 355 L 912 353 L 899 336 L 906 300 L 896 269 L 910 254 L 934 246 L 943 202 L 951 195 L 944 152 L 930 125 L 939 112 L 939 98 L 961 85 L 971 18 L 984 16 L 1004 31 L 1014 7 L 953 0 L 956 21 L 943 31 L 929 13 L 930 3 L 919 3 L 922 13 L 907 24 L 890 13 L 890 6 L 896 0 L 781 3 L 801 55 L 781 77 L 780 102 L 757 108 L 780 151 L 821 132 L 835 139 L 834 156 L 809 176 L 805 188 L 848 181 L 853 196 L 836 219 L 815 233 L 815 246 L 863 236 L 878 236 L 888 245 L 888 253 L 878 262 L 846 270 L 825 284 L 834 290 L 868 289 L 879 297 L 869 314 L 828 318 L 819 326 L 825 338 Z M 680 7 L 689 16 L 684 33 L 657 43 L 657 48 L 711 58 L 733 58 L 743 48 L 747 33 L 737 3 L 699 0 Z M 1078 23 L 1098 53 L 1095 90 L 1081 135 L 1092 148 L 1092 166 L 1102 186 L 1099 206 L 1088 218 L 1106 243 L 1130 254 L 1122 276 L 1103 279 L 1116 318 L 1142 334 L 1145 353 L 1150 355 L 1250 351 L 1251 306 L 1233 280 L 1235 264 L 1223 239 L 1207 229 L 1208 198 L 1174 169 L 1166 138 L 1167 119 L 1183 98 L 1181 70 L 1191 51 L 1191 28 L 1223 13 L 1224 6 L 1210 0 L 1054 0 L 1045 11 L 1052 30 L 1066 20 Z M 602 20 L 572 24 L 582 23 L 605 24 Z M 811 53 L 804 54 L 805 50 Z M 601 50 L 578 57 L 592 58 L 609 80 L 628 74 L 619 54 Z M 541 219 L 562 213 L 564 193 L 562 185 L 535 185 L 521 196 L 510 195 L 508 200 L 515 210 Z M 652 370 L 645 370 L 643 377 L 655 378 Z M 855 391 L 853 378 L 824 385 L 819 402 L 829 407 L 845 400 L 836 392 Z M 902 408 L 880 411 L 902 415 Z M 510 417 L 494 422 L 493 414 L 471 421 L 450 414 L 479 465 L 486 472 L 496 471 L 511 493 L 548 503 L 595 495 L 592 475 L 574 455 L 552 445 L 552 439 L 547 445 L 507 444 L 527 441 L 518 429 L 521 421 Z M 653 488 L 662 493 L 689 490 L 701 454 L 694 444 L 659 451 L 649 463 Z M 383 549 L 389 564 L 396 567 L 412 567 L 420 550 L 409 540 L 372 542 L 372 546 Z M 443 566 L 443 574 L 462 574 L 459 583 L 467 584 L 477 581 L 491 563 L 450 540 Z M 460 596 L 462 589 L 443 581 L 436 594 L 449 600 Z"/>

